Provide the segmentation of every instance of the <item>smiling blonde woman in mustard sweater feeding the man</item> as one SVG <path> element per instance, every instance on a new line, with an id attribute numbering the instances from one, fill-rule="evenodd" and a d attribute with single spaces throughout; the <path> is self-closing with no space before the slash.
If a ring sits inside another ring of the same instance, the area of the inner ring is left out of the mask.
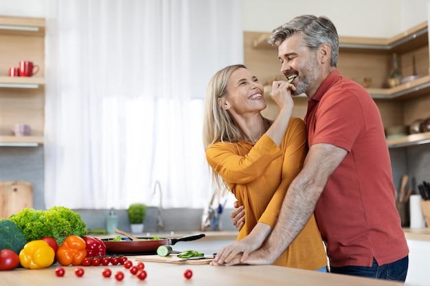
<path id="1" fill-rule="evenodd" d="M 212 265 L 228 265 L 237 254 L 261 246 L 278 219 L 288 185 L 302 169 L 306 130 L 301 119 L 291 118 L 291 91 L 293 84 L 273 82 L 272 99 L 280 112 L 272 122 L 260 113 L 266 108 L 263 86 L 244 65 L 225 67 L 210 80 L 203 123 L 207 162 L 220 195 L 231 191 L 247 210 L 237 241 L 222 248 Z M 327 265 L 315 217 L 273 264 L 307 270 Z"/>

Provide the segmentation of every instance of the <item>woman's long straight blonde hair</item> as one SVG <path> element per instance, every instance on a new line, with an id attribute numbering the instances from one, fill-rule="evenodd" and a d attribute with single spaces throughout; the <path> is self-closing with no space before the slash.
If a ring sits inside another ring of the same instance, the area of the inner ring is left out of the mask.
<path id="1" fill-rule="evenodd" d="M 223 104 L 218 102 L 218 99 L 221 99 L 220 102 L 224 102 L 225 95 L 227 95 L 227 81 L 236 69 L 247 69 L 247 67 L 243 64 L 225 67 L 215 73 L 207 85 L 203 115 L 203 145 L 205 150 L 216 142 L 236 143 L 242 139 L 242 132 L 231 119 L 227 110 L 223 108 Z M 269 125 L 271 123 L 268 119 L 264 119 L 264 121 Z M 229 191 L 227 184 L 214 169 L 210 169 L 212 186 L 221 196 L 225 195 Z"/>

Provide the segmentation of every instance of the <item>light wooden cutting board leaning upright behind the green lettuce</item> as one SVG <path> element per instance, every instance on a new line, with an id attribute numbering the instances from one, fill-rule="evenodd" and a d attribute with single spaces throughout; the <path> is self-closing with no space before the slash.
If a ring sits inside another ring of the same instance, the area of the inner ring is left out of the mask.
<path id="1" fill-rule="evenodd" d="M 0 219 L 33 207 L 33 186 L 26 181 L 0 181 Z"/>

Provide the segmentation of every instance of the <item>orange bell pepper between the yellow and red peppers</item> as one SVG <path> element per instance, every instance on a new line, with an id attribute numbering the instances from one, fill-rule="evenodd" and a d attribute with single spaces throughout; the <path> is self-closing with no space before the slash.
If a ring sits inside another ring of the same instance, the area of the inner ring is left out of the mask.
<path id="1" fill-rule="evenodd" d="M 78 235 L 69 235 L 61 243 L 56 252 L 58 263 L 63 266 L 80 265 L 82 260 L 87 257 L 87 244 Z"/>

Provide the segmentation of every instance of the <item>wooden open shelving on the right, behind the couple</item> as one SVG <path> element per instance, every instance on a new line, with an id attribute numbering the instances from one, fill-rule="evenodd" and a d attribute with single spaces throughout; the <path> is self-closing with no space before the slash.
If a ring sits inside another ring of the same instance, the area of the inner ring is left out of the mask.
<path id="1" fill-rule="evenodd" d="M 265 85 L 267 110 L 263 115 L 273 119 L 278 108 L 266 91 L 271 82 L 282 79 L 278 51 L 269 43 L 270 33 L 244 32 L 245 65 Z M 422 75 L 414 81 L 389 87 L 387 78 L 392 70 L 393 53 L 397 53 L 403 77 Z M 414 64 L 415 62 L 415 64 Z M 410 125 L 417 119 L 430 117 L 429 34 L 427 22 L 411 27 L 392 38 L 357 38 L 339 36 L 339 62 L 337 68 L 367 88 L 378 105 L 385 128 Z M 295 97 L 294 116 L 306 114 L 307 98 Z M 430 142 L 430 132 L 389 139 L 390 148 L 407 147 Z"/>

